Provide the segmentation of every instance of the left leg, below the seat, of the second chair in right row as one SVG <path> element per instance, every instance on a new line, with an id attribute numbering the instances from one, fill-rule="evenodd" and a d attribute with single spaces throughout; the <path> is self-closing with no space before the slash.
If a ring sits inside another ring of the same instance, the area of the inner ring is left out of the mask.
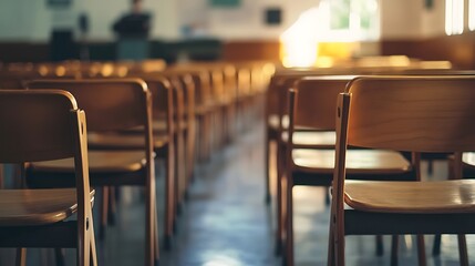
<path id="1" fill-rule="evenodd" d="M 286 215 L 286 260 L 287 266 L 293 266 L 293 198 L 292 198 L 293 181 L 290 175 L 287 175 L 287 215 Z"/>

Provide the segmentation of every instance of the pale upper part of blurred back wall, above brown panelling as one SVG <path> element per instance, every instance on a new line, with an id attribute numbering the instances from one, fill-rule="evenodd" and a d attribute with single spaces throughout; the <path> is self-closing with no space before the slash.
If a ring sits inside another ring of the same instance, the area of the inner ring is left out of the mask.
<path id="1" fill-rule="evenodd" d="M 130 10 L 131 0 L 72 0 L 69 8 L 51 8 L 48 0 L 0 0 L 0 41 L 48 41 L 53 28 L 78 29 L 78 17 L 87 13 L 91 40 L 111 41 L 113 22 Z M 276 40 L 299 14 L 320 0 L 240 0 L 237 8 L 210 8 L 209 0 L 144 0 L 153 13 L 152 38 L 175 40 L 190 25 L 196 35 L 224 40 Z M 427 9 L 422 0 L 380 0 L 381 38 L 417 39 L 444 34 L 444 2 Z M 281 8 L 282 23 L 267 25 L 265 10 Z"/>

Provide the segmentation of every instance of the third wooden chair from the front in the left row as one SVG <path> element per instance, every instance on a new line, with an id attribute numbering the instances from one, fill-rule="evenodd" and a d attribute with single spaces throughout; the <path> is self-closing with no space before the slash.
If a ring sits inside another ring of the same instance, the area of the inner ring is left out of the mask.
<path id="1" fill-rule="evenodd" d="M 173 232 L 176 216 L 176 163 L 179 157 L 176 154 L 176 130 L 173 114 L 177 104 L 174 100 L 176 89 L 168 79 L 163 76 L 145 78 L 147 88 L 153 99 L 153 151 L 155 158 L 165 163 L 165 216 L 164 216 L 164 248 L 172 247 Z M 143 137 L 144 126 L 136 126 L 121 132 L 94 133 L 90 135 L 90 146 L 101 150 L 137 150 L 145 145 Z M 183 161 L 183 160 L 182 160 Z M 107 190 L 106 190 L 107 191 Z M 111 208 L 107 201 L 103 202 L 105 211 Z M 106 225 L 106 213 L 103 213 L 103 226 Z"/>

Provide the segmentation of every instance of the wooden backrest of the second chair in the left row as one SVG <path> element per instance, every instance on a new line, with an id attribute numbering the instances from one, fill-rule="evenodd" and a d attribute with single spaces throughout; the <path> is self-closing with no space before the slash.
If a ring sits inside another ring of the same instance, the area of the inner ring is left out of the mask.
<path id="1" fill-rule="evenodd" d="M 151 93 L 146 83 L 138 79 L 37 80 L 28 88 L 71 92 L 87 113 L 90 131 L 117 131 L 149 123 Z"/>

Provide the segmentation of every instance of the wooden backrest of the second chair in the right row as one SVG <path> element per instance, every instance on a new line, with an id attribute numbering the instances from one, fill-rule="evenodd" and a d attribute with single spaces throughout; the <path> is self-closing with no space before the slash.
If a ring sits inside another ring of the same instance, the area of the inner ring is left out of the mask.
<path id="1" fill-rule="evenodd" d="M 289 103 L 291 126 L 311 127 L 323 131 L 335 130 L 338 94 L 344 92 L 347 83 L 354 76 L 306 76 L 292 85 L 297 92 L 295 102 Z"/>

